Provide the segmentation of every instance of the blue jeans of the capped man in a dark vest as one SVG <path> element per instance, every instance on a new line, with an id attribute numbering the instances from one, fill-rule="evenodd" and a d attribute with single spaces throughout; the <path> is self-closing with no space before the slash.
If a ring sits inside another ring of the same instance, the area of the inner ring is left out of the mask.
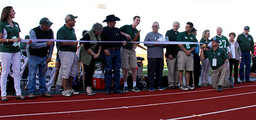
<path id="1" fill-rule="evenodd" d="M 29 89 L 29 94 L 33 93 L 35 94 L 35 80 L 36 80 L 36 72 L 37 68 L 39 69 L 38 71 L 38 80 L 39 80 L 39 90 L 41 91 L 41 94 L 44 94 L 47 92 L 47 87 L 46 87 L 46 73 L 42 72 L 44 69 L 47 67 L 47 64 L 44 65 L 46 62 L 45 57 L 38 57 L 35 55 L 29 55 L 29 82 L 28 82 L 28 89 Z"/>

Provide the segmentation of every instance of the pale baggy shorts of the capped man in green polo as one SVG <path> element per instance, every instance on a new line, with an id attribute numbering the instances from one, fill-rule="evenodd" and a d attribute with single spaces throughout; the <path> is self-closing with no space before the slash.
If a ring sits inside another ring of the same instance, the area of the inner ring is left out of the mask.
<path id="1" fill-rule="evenodd" d="M 78 58 L 75 52 L 70 51 L 59 51 L 59 58 L 61 61 L 61 77 L 68 79 L 71 77 L 76 77 L 78 68 Z"/>

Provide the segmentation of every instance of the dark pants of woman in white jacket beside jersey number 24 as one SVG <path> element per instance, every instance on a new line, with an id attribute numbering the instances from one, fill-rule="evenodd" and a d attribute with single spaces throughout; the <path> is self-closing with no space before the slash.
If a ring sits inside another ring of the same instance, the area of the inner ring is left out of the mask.
<path id="1" fill-rule="evenodd" d="M 234 82 L 238 82 L 238 66 L 239 66 L 239 60 L 230 58 L 229 59 L 229 77 L 232 77 L 232 70 L 234 66 Z"/>

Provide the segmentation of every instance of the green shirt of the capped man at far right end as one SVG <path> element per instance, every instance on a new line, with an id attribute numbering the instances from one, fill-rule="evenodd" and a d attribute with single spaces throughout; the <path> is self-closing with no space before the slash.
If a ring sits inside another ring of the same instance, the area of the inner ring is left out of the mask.
<path id="1" fill-rule="evenodd" d="M 254 52 L 254 42 L 251 35 L 248 34 L 248 37 L 246 38 L 244 33 L 240 34 L 237 38 L 237 42 L 239 43 L 239 46 L 241 48 L 241 51 L 244 52 Z"/>

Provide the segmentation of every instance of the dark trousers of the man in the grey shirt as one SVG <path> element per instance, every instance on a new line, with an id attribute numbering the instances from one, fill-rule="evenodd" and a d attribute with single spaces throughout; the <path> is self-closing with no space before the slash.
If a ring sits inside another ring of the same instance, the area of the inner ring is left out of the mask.
<path id="1" fill-rule="evenodd" d="M 147 88 L 161 86 L 163 65 L 163 58 L 147 58 Z"/>

